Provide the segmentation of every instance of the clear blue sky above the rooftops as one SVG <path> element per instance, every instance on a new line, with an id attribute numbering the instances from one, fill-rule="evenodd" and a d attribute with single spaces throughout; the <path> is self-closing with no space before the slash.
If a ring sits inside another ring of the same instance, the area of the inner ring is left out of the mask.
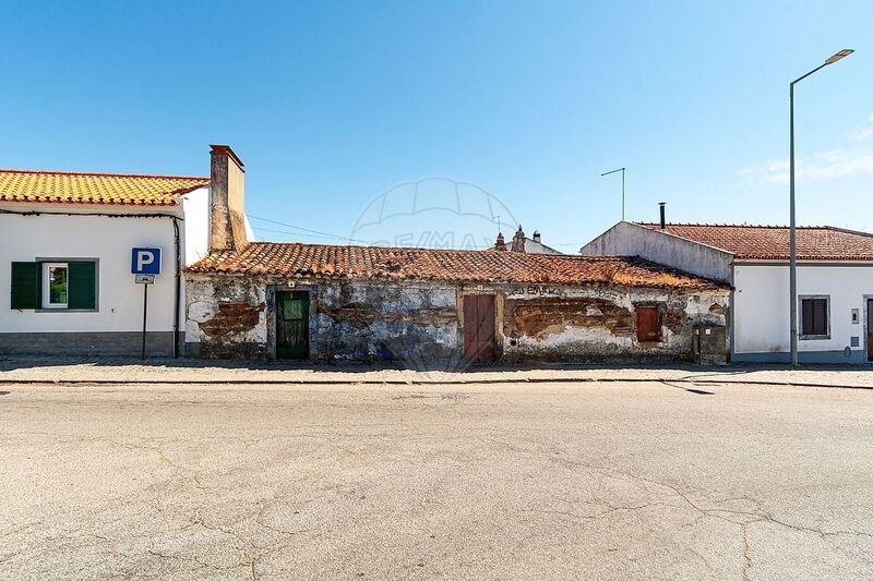
<path id="1" fill-rule="evenodd" d="M 621 166 L 630 219 L 786 223 L 788 83 L 850 47 L 798 87 L 798 213 L 873 230 L 869 1 L 179 4 L 4 10 L 0 167 L 208 174 L 227 143 L 272 240 L 442 177 L 572 252 L 619 219 Z"/>

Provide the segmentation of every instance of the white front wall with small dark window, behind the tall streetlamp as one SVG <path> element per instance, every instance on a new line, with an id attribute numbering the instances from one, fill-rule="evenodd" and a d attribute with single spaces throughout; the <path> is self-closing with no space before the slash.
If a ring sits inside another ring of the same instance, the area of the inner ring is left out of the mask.
<path id="1" fill-rule="evenodd" d="M 734 265 L 733 341 L 736 353 L 788 352 L 788 265 Z M 842 351 L 851 337 L 865 344 L 864 294 L 873 294 L 873 265 L 798 266 L 798 295 L 830 296 L 830 339 L 800 339 L 798 351 Z M 859 324 L 851 323 L 858 308 Z M 798 310 L 798 313 L 800 311 Z M 798 314 L 798 326 L 800 326 Z"/>

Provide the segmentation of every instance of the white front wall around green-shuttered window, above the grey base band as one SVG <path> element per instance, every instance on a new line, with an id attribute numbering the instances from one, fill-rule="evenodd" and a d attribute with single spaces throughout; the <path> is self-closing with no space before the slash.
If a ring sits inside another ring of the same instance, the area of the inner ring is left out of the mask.
<path id="1" fill-rule="evenodd" d="M 139 208 L 70 204 L 3 204 L 2 209 L 176 214 L 181 208 Z M 172 330 L 175 252 L 169 218 L 99 216 L 17 216 L 0 214 L 0 332 L 135 331 L 142 329 L 141 285 L 130 274 L 131 249 L 162 249 L 162 275 L 148 289 L 148 329 Z M 10 308 L 11 263 L 37 258 L 98 258 L 96 313 Z M 184 310 L 182 308 L 182 312 Z"/>

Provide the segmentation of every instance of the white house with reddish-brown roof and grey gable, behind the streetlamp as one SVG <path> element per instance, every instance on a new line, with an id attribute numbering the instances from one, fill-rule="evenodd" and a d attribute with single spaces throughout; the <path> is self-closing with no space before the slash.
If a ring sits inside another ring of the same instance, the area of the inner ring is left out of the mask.
<path id="1" fill-rule="evenodd" d="M 788 228 L 622 221 L 585 255 L 637 255 L 731 283 L 731 361 L 790 361 Z M 873 362 L 873 234 L 797 230 L 801 363 Z"/>

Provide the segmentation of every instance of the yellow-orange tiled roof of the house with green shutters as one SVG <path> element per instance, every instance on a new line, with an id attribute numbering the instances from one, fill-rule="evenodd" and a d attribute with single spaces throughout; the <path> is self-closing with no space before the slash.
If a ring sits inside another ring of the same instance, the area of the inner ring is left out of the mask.
<path id="1" fill-rule="evenodd" d="M 208 178 L 0 169 L 0 202 L 172 206 Z"/>

